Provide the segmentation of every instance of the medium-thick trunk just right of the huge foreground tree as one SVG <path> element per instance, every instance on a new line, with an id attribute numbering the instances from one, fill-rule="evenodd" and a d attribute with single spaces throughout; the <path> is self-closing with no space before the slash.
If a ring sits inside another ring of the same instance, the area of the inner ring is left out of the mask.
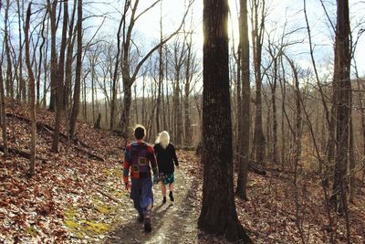
<path id="1" fill-rule="evenodd" d="M 250 102 L 251 102 L 251 90 L 250 90 L 250 47 L 248 40 L 248 11 L 247 0 L 240 1 L 240 48 L 241 48 L 241 72 L 242 72 L 242 111 L 240 110 L 241 117 L 241 130 L 239 138 L 239 163 L 238 163 L 238 181 L 236 193 L 242 199 L 247 199 L 247 170 L 250 151 Z"/>

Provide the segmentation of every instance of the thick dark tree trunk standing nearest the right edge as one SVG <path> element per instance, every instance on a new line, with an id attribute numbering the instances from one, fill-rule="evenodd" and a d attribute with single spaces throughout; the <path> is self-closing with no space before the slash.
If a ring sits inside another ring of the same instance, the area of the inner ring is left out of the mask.
<path id="1" fill-rule="evenodd" d="M 333 195 L 336 196 L 336 206 L 339 213 L 347 212 L 347 198 L 345 189 L 345 176 L 347 171 L 349 153 L 349 115 L 350 92 L 349 80 L 350 51 L 349 51 L 349 2 L 339 0 L 337 9 L 336 43 L 334 82 L 336 83 L 336 141 L 337 150 L 335 157 L 335 179 Z M 348 239 L 349 243 L 349 239 Z"/>

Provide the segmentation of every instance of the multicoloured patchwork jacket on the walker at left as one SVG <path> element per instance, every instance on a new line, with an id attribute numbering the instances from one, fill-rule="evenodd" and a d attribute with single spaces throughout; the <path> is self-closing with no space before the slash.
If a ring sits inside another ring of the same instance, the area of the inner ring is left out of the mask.
<path id="1" fill-rule="evenodd" d="M 128 176 L 140 179 L 157 175 L 157 163 L 153 147 L 144 142 L 132 142 L 127 145 L 124 153 L 123 180 L 128 183 Z"/>

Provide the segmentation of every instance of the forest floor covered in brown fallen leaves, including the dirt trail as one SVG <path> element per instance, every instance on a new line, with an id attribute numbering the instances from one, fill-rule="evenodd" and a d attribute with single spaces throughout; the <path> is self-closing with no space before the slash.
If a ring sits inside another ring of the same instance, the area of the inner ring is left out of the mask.
<path id="1" fill-rule="evenodd" d="M 26 106 L 7 112 L 9 146 L 30 153 Z M 120 137 L 78 123 L 78 140 L 61 137 L 59 153 L 51 153 L 54 114 L 36 114 L 36 175 L 27 175 L 24 156 L 0 155 L 0 243 L 225 243 L 197 228 L 203 167 L 193 152 L 178 151 L 174 202 L 162 205 L 160 185 L 154 186 L 152 231 L 145 234 L 121 184 Z M 235 201 L 254 243 L 329 243 L 330 235 L 345 243 L 344 217 L 331 211 L 328 227 L 318 176 L 303 174 L 295 186 L 292 175 L 276 173 L 249 173 L 249 201 Z M 365 243 L 364 203 L 359 189 L 349 204 L 352 243 Z"/>

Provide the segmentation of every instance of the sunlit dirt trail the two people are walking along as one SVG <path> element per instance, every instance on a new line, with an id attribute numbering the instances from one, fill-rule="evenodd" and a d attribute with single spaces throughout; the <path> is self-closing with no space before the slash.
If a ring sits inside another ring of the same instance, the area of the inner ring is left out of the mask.
<path id="1" fill-rule="evenodd" d="M 161 186 L 155 185 L 154 207 L 152 209 L 152 231 L 145 233 L 143 224 L 137 221 L 137 212 L 129 205 L 132 212 L 105 239 L 105 243 L 197 243 L 197 208 L 196 179 L 183 172 L 175 170 L 174 202 L 167 196 L 167 203 L 162 205 Z M 168 195 L 168 193 L 167 193 Z"/>

